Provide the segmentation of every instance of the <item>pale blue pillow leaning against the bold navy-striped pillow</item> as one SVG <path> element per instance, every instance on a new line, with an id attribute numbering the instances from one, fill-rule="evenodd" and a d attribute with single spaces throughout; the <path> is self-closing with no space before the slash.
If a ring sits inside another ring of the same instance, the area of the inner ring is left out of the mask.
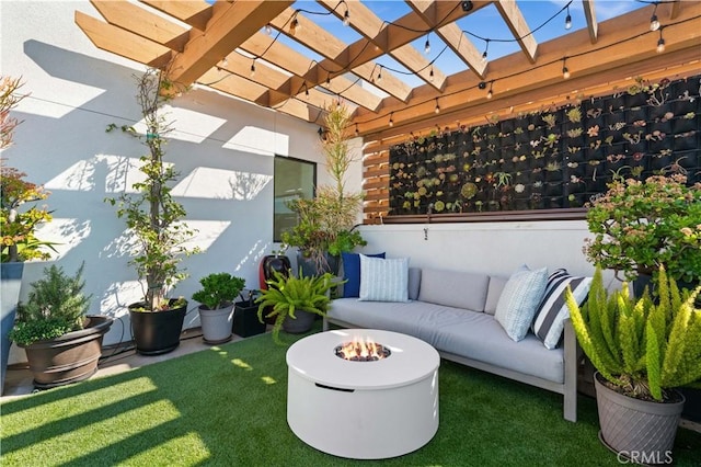
<path id="1" fill-rule="evenodd" d="M 528 333 L 547 284 L 547 267 L 531 271 L 522 266 L 504 286 L 494 318 L 514 341 L 522 340 Z"/>

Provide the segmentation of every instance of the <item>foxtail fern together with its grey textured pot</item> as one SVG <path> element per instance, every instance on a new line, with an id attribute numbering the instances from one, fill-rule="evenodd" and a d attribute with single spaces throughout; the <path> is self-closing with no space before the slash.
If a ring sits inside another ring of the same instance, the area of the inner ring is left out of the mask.
<path id="1" fill-rule="evenodd" d="M 701 309 L 680 294 L 660 267 L 658 303 L 645 289 L 631 297 L 628 284 L 608 293 L 597 266 L 588 300 L 565 299 L 582 349 L 591 361 L 605 444 L 619 456 L 668 464 L 685 398 L 674 388 L 701 378 Z"/>

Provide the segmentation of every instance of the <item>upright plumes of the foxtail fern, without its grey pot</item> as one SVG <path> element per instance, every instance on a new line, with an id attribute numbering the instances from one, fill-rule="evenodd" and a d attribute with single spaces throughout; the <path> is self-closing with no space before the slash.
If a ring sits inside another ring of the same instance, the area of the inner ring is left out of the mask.
<path id="1" fill-rule="evenodd" d="M 655 278 L 659 300 L 647 289 L 631 297 L 627 283 L 609 294 L 597 267 L 588 300 L 565 299 L 579 345 L 596 369 L 620 392 L 663 401 L 665 390 L 701 379 L 701 286 L 682 296 L 664 267 Z"/>

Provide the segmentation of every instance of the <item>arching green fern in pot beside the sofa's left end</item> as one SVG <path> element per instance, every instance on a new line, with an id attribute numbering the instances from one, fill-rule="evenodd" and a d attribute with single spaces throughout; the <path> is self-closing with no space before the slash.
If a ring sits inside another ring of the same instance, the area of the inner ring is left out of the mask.
<path id="1" fill-rule="evenodd" d="M 268 288 L 261 291 L 261 296 L 255 301 L 258 304 L 258 321 L 275 318 L 273 339 L 280 343 L 280 329 L 294 334 L 307 332 L 311 329 L 314 315 L 326 315 L 331 301 L 329 291 L 338 285 L 338 282 L 334 281 L 331 273 L 304 276 L 301 267 L 297 276 L 291 272 L 281 274 L 277 271 L 274 276 L 267 282 Z M 264 312 L 267 315 L 264 316 Z"/>

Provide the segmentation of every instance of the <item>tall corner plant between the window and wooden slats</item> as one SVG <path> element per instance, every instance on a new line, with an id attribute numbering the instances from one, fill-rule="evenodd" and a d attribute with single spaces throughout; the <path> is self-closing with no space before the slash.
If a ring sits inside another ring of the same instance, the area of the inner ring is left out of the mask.
<path id="1" fill-rule="evenodd" d="M 306 275 L 336 273 L 342 252 L 367 243 L 360 232 L 354 230 L 363 194 L 345 191 L 346 172 L 354 161 L 346 136 L 349 122 L 348 110 L 342 103 L 334 102 L 327 109 L 321 149 L 334 183 L 319 186 L 312 200 L 298 198 L 287 203 L 297 213 L 298 224 L 283 232 L 284 249 L 298 248 L 298 265 L 304 267 Z M 311 264 L 307 265 L 307 262 Z"/>

